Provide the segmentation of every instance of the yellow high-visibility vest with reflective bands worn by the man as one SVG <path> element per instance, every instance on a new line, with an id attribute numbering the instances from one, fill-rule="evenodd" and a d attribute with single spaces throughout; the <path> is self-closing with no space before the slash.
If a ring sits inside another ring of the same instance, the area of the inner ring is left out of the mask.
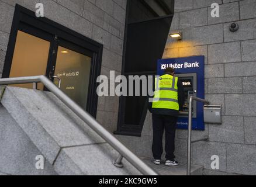
<path id="1" fill-rule="evenodd" d="M 166 74 L 155 78 L 152 108 L 179 110 L 178 77 Z"/>

